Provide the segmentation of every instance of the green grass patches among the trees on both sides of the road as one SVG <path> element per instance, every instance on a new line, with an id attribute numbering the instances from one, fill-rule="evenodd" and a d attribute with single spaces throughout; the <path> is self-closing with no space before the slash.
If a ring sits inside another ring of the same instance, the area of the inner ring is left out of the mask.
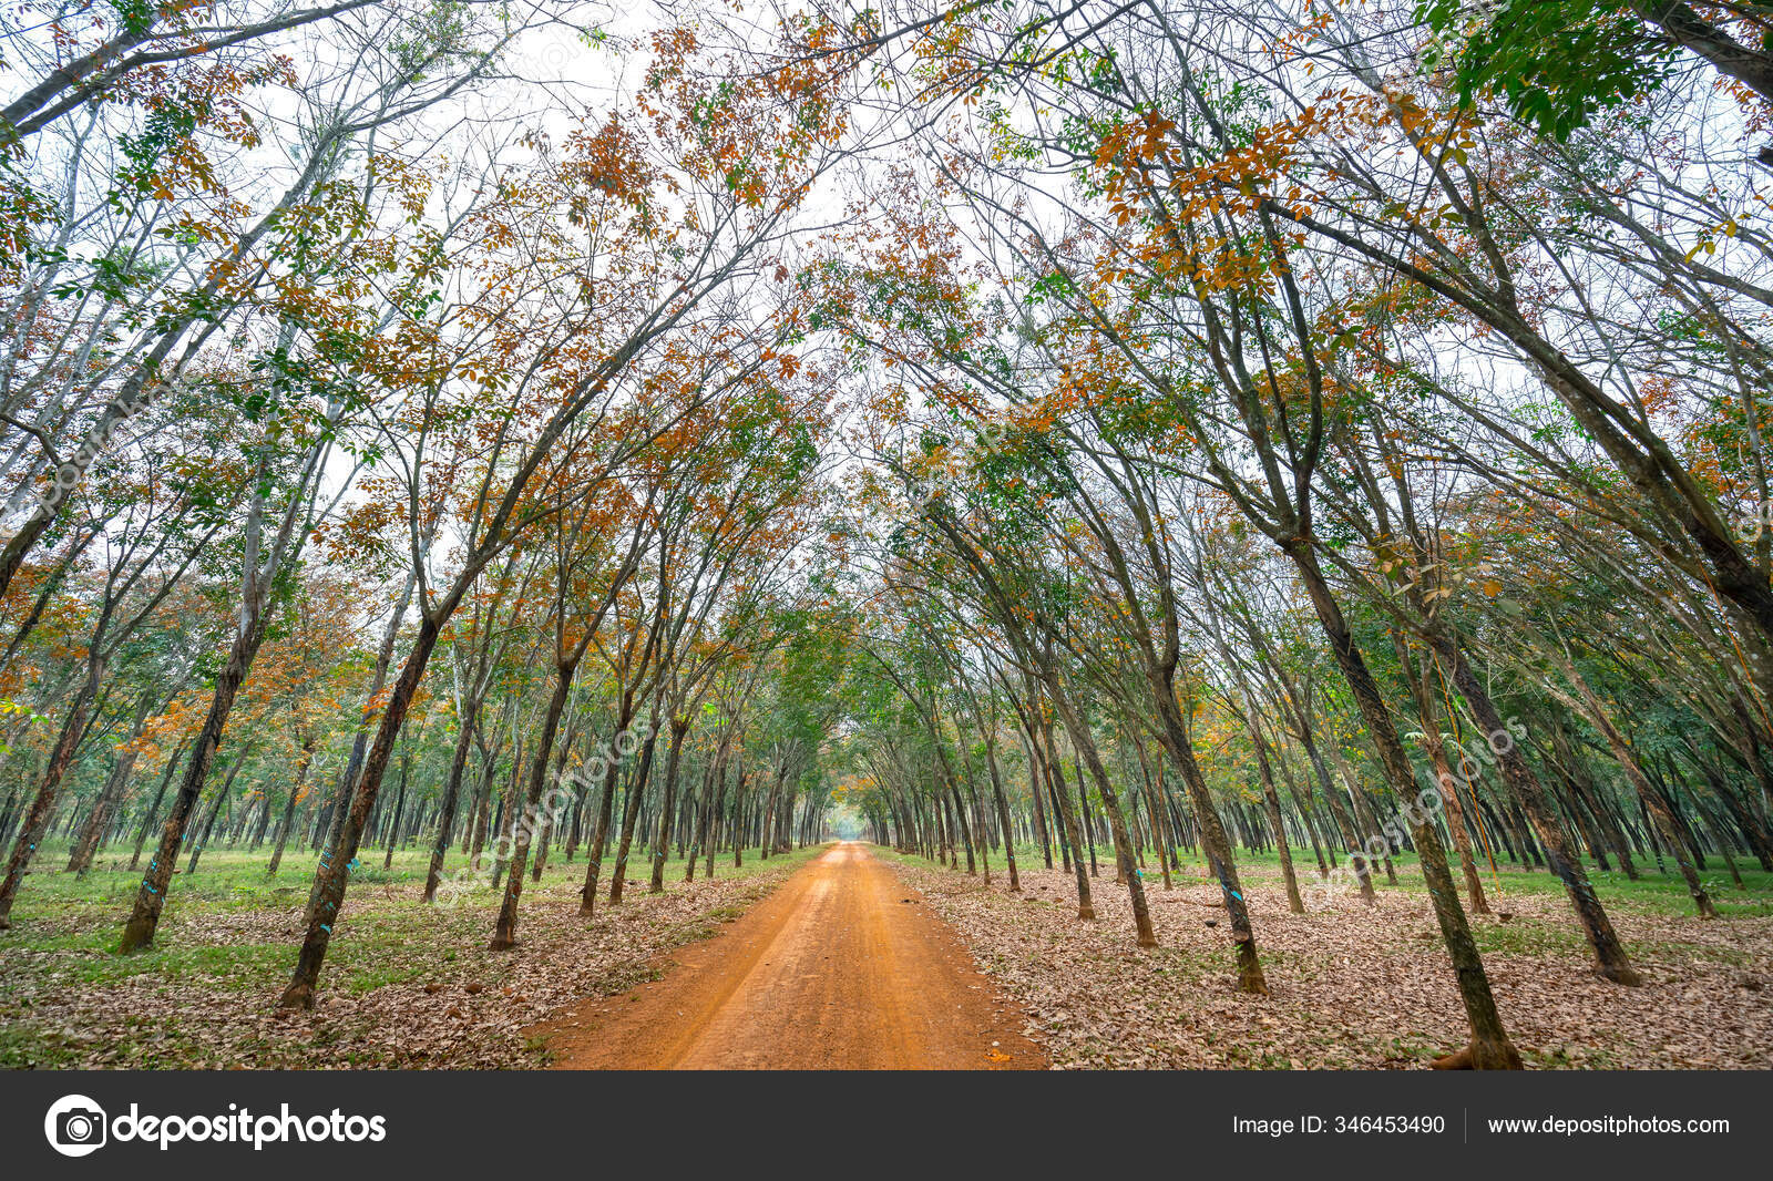
<path id="1" fill-rule="evenodd" d="M 817 853 L 817 848 L 800 849 L 787 858 L 764 862 L 757 858 L 755 849 L 748 849 L 739 869 L 734 869 L 732 855 L 725 853 L 716 858 L 716 872 L 723 880 L 743 880 L 784 864 L 800 864 Z M 892 849 L 876 853 L 886 860 L 933 864 Z M 59 995 L 67 993 L 110 997 L 119 1009 L 128 1009 L 129 998 L 137 995 L 170 1000 L 186 995 L 206 998 L 209 1011 L 193 1005 L 188 1018 L 129 1025 L 122 1039 L 128 1044 L 119 1046 L 119 1064 L 124 1066 L 206 1064 L 211 1050 L 193 1036 L 193 1027 L 183 1021 L 215 1020 L 215 1004 L 232 1004 L 223 998 L 239 997 L 241 1004 L 259 1004 L 264 997 L 275 997 L 294 961 L 300 913 L 317 858 L 312 853 L 285 853 L 278 876 L 268 878 L 264 872 L 268 856 L 268 851 L 206 853 L 193 878 L 183 872 L 174 878 L 156 945 L 135 956 L 119 956 L 117 936 L 140 883 L 140 874 L 128 871 L 128 853 L 101 856 L 90 874 L 74 878 L 59 872 L 66 864 L 66 848 L 50 844 L 39 855 L 39 871 L 20 892 L 12 913 L 14 927 L 0 933 L 0 1068 L 76 1066 L 90 1060 L 90 1039 L 82 1044 L 78 1014 L 51 1016 Z M 505 972 L 500 966 L 505 961 L 480 954 L 491 910 L 496 906 L 495 894 L 486 892 L 468 906 L 440 911 L 418 901 L 429 860 L 427 849 L 395 851 L 387 871 L 381 869 L 381 849 L 371 851 L 363 860 L 367 864 L 353 876 L 346 919 L 328 952 L 324 982 L 328 989 L 362 997 L 376 989 L 415 988 L 418 981 L 463 974 L 472 974 L 488 989 L 505 982 L 500 975 Z M 1041 865 L 1043 858 L 1037 849 L 1021 848 L 1018 862 L 1032 867 Z M 459 855 L 452 851 L 450 867 L 456 864 Z M 961 864 L 965 865 L 965 856 Z M 993 878 L 998 880 L 1005 869 L 1002 851 L 993 853 L 989 864 Z M 1097 848 L 1097 865 L 1096 888 L 1108 888 L 1113 880 L 1108 849 Z M 1395 867 L 1397 887 L 1385 885 L 1383 874 L 1376 874 L 1379 894 L 1422 896 L 1424 885 L 1415 856 L 1395 858 Z M 612 869 L 606 858 L 605 885 Z M 631 856 L 628 874 L 640 881 L 638 887 L 629 887 L 631 897 L 645 892 L 649 869 L 651 864 L 644 856 Z M 1271 853 L 1252 855 L 1248 849 L 1239 849 L 1238 869 L 1252 885 L 1280 883 L 1280 860 Z M 1316 862 L 1308 853 L 1298 860 L 1298 869 L 1307 878 L 1316 874 Z M 1748 888 L 1736 890 L 1720 869 L 1713 858 L 1706 883 L 1725 920 L 1773 913 L 1773 874 L 1743 869 Z M 553 856 L 539 887 L 525 883 L 525 908 L 569 906 L 583 872 L 583 856 L 571 864 Z M 1193 883 L 1206 880 L 1206 865 L 1199 856 L 1184 856 L 1181 872 Z M 1149 881 L 1158 878 L 1156 862 L 1149 855 L 1145 874 Z M 1693 913 L 1686 883 L 1674 874 L 1658 874 L 1654 865 L 1642 867 L 1638 881 L 1629 881 L 1617 871 L 1601 872 L 1592 865 L 1589 874 L 1603 903 L 1619 917 L 1668 919 Z M 683 862 L 672 858 L 667 881 L 676 885 L 681 878 Z M 702 878 L 700 867 L 697 878 Z M 1498 881 L 1500 890 L 1496 890 Z M 1553 903 L 1539 906 L 1523 901 L 1514 906 L 1516 913 L 1509 922 L 1473 924 L 1473 935 L 1486 954 L 1534 959 L 1587 958 L 1580 931 L 1567 922 L 1567 908 L 1562 904 L 1564 887 L 1551 874 L 1509 865 L 1491 874 L 1486 865 L 1484 885 L 1495 892 L 1493 904 L 1498 911 L 1511 910 L 1509 899 L 1544 896 Z M 1037 894 L 1030 904 L 1071 908 L 1069 897 L 1057 892 Z M 661 933 L 668 943 L 677 945 L 716 935 L 723 924 L 743 913 L 745 906 L 723 903 L 686 920 L 642 919 L 642 922 L 670 926 L 670 931 Z M 1681 926 L 1656 927 L 1652 938 L 1628 940 L 1628 954 L 1645 961 L 1704 959 L 1732 966 L 1746 963 L 1745 952 L 1722 942 L 1688 942 L 1683 931 Z M 1204 972 L 1229 972 L 1230 952 L 1220 952 L 1218 959 L 1223 963 L 1209 956 L 1207 961 L 1167 970 L 1174 970 L 1179 979 Z M 1264 949 L 1264 961 L 1273 966 L 1273 949 Z M 585 993 L 608 988 L 621 991 L 647 972 L 647 965 L 640 961 L 619 965 L 608 979 L 583 981 Z M 41 1018 L 37 1009 L 43 1011 Z M 328 1034 L 328 1037 L 340 1036 Z M 333 1048 L 339 1060 L 355 1053 L 346 1041 Z M 1402 1034 L 1395 1046 L 1397 1057 L 1404 1059 L 1427 1052 L 1427 1041 L 1417 1044 L 1411 1034 Z M 1544 1064 L 1557 1062 L 1548 1059 Z"/>

